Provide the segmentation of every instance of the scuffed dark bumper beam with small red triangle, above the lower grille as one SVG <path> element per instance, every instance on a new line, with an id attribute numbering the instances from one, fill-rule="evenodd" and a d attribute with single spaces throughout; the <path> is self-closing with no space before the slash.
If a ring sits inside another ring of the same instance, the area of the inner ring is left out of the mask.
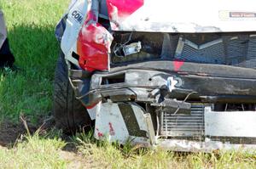
<path id="1" fill-rule="evenodd" d="M 83 90 L 78 88 L 79 98 L 85 98 L 85 105 L 109 97 L 113 102 L 150 102 L 155 99 L 151 96 L 157 92 L 154 89 L 167 89 L 174 99 L 184 99 L 194 92 L 191 99 L 204 103 L 256 103 L 256 70 L 229 65 L 150 61 L 119 66 L 108 73 L 95 73 L 84 98 L 80 97 L 84 95 Z"/>

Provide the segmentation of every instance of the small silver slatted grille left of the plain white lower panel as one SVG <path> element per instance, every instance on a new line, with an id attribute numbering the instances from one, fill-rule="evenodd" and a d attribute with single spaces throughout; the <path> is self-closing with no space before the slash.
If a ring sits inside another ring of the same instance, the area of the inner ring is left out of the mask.
<path id="1" fill-rule="evenodd" d="M 174 138 L 203 138 L 204 108 L 203 104 L 192 104 L 190 115 L 162 112 L 160 135 Z"/>

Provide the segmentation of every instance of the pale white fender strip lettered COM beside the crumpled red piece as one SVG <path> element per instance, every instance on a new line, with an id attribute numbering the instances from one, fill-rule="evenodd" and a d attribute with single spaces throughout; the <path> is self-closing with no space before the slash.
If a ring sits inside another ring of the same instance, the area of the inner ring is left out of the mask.
<path id="1" fill-rule="evenodd" d="M 87 11 L 90 8 L 90 3 L 84 0 L 77 0 L 73 5 L 71 5 L 68 17 L 67 17 L 67 25 L 66 30 L 64 31 L 63 37 L 61 39 L 61 49 L 65 54 L 65 58 L 72 62 L 74 65 L 79 65 L 78 60 L 73 59 L 72 53 L 77 52 L 77 39 L 79 36 L 79 31 L 84 24 L 84 20 L 87 16 Z M 73 12 L 79 11 L 83 20 L 78 22 L 73 18 Z"/>

